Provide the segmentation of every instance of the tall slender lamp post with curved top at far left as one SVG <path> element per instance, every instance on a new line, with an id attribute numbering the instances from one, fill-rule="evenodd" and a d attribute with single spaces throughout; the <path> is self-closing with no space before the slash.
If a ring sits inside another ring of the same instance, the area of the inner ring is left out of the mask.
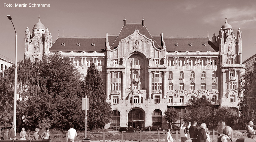
<path id="1" fill-rule="evenodd" d="M 12 21 L 11 15 L 7 15 L 8 19 Z M 13 25 L 13 22 L 12 22 Z M 14 102 L 13 102 L 13 124 L 16 126 L 16 108 L 17 108 L 17 32 L 15 31 L 15 71 L 14 71 Z M 17 127 L 16 127 L 17 128 Z M 16 129 L 14 129 L 16 134 Z"/>

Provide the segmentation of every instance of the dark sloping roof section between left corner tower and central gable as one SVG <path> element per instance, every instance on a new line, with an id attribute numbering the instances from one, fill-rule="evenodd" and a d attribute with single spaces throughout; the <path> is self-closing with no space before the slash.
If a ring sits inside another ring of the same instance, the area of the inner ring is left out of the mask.
<path id="1" fill-rule="evenodd" d="M 58 38 L 49 51 L 106 51 L 106 38 Z"/>

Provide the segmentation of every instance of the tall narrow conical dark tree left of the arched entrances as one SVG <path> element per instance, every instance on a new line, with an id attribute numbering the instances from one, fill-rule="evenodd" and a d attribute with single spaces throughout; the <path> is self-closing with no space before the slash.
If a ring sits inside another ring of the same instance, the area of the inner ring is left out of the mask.
<path id="1" fill-rule="evenodd" d="M 85 77 L 84 93 L 89 98 L 87 121 L 90 129 L 102 128 L 111 120 L 112 108 L 106 102 L 103 81 L 95 64 L 91 64 Z"/>

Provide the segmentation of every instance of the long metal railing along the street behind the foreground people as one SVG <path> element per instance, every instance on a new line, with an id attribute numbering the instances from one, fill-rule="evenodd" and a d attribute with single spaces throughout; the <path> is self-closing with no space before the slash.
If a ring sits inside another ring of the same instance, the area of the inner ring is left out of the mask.
<path id="1" fill-rule="evenodd" d="M 87 133 L 87 138 L 91 141 L 97 142 L 164 142 L 166 131 L 138 131 L 138 132 L 101 132 L 101 133 Z M 171 135 L 174 142 L 180 142 L 180 131 L 171 131 Z M 19 138 L 18 136 L 16 136 Z M 0 142 L 66 142 L 66 134 L 50 135 L 49 140 L 32 140 L 33 136 L 28 135 L 26 139 L 30 140 L 0 140 Z M 84 138 L 84 133 L 77 134 L 75 142 L 82 141 Z M 231 132 L 232 141 L 236 141 L 238 138 L 247 138 L 246 131 L 232 131 Z M 210 131 L 210 139 L 212 141 L 217 140 L 217 131 Z M 254 137 L 256 140 L 256 137 Z M 188 134 L 188 141 L 191 141 L 190 135 Z"/>

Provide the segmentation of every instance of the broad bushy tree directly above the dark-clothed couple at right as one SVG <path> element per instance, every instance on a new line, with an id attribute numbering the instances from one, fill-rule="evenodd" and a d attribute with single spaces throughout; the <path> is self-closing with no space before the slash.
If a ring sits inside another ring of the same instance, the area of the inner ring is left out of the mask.
<path id="1" fill-rule="evenodd" d="M 214 108 L 211 100 L 194 97 L 188 101 L 187 106 L 184 121 L 197 121 L 199 124 L 203 122 L 205 124 L 212 124 Z"/>

